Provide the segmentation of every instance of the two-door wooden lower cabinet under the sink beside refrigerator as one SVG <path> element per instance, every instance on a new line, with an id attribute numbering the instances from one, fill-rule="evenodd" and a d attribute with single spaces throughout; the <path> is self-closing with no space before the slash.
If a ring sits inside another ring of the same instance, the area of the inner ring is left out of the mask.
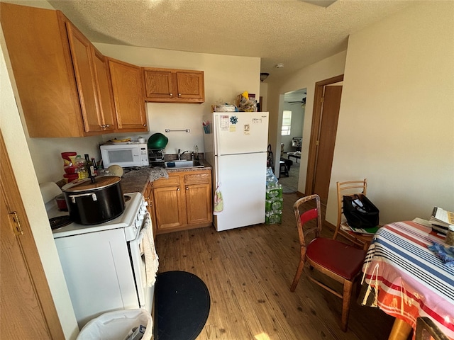
<path id="1" fill-rule="evenodd" d="M 149 185 L 156 234 L 208 227 L 213 222 L 211 170 L 174 172 Z"/>

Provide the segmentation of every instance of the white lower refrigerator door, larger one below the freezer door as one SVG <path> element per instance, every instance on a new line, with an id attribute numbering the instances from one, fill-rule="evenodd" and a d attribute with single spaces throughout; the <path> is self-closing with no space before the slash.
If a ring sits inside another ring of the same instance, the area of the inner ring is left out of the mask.
<path id="1" fill-rule="evenodd" d="M 223 211 L 215 216 L 216 230 L 234 229 L 265 222 L 267 154 L 216 157 Z"/>

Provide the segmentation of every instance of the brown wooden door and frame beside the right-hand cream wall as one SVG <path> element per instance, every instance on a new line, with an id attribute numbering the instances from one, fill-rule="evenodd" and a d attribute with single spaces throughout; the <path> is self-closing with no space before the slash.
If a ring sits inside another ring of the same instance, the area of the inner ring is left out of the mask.
<path id="1" fill-rule="evenodd" d="M 314 113 L 306 176 L 306 194 L 317 193 L 326 205 L 341 106 L 343 74 L 315 86 Z"/>

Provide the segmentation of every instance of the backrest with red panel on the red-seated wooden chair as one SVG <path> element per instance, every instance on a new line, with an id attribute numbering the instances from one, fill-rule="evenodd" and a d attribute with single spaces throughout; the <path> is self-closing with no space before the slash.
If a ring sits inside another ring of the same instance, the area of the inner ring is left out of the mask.
<path id="1" fill-rule="evenodd" d="M 315 208 L 314 208 L 315 203 Z M 299 198 L 294 205 L 295 218 L 297 220 L 299 243 L 306 246 L 306 237 L 314 234 L 320 237 L 321 232 L 321 209 L 319 195 L 311 195 Z M 308 223 L 316 219 L 316 223 Z"/>

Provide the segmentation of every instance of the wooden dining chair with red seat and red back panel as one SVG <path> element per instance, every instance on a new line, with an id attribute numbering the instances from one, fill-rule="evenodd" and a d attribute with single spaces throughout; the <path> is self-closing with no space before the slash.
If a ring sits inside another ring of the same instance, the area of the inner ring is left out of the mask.
<path id="1" fill-rule="evenodd" d="M 315 200 L 316 208 L 302 212 L 304 210 L 304 203 L 309 203 L 312 200 Z M 294 203 L 294 213 L 297 219 L 301 256 L 290 290 L 293 292 L 297 288 L 299 277 L 306 262 L 316 271 L 342 283 L 343 293 L 338 293 L 320 280 L 308 276 L 314 283 L 325 288 L 337 297 L 341 297 L 341 328 L 343 331 L 347 331 L 353 283 L 360 274 L 366 251 L 337 241 L 336 239 L 320 237 L 321 210 L 318 195 L 306 196 L 297 200 Z"/>

